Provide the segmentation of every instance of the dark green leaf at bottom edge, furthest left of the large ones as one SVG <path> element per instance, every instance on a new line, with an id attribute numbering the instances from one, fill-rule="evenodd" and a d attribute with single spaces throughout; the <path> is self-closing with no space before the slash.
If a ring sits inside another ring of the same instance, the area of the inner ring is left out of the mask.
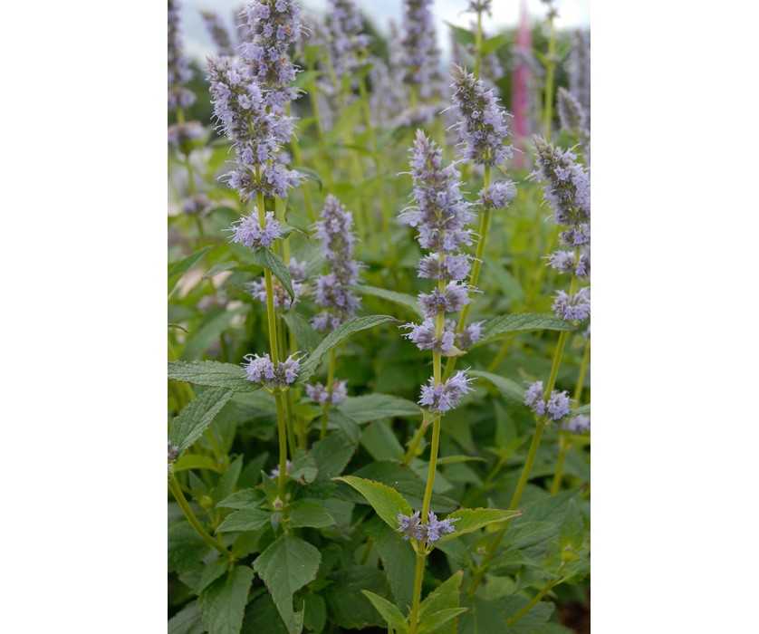
<path id="1" fill-rule="evenodd" d="M 197 603 L 209 634 L 238 634 L 252 582 L 253 571 L 237 566 L 200 593 Z"/>

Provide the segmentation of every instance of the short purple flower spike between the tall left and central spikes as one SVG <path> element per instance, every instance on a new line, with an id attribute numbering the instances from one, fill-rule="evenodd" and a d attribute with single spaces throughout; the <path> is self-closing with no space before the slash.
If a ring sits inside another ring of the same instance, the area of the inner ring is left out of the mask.
<path id="1" fill-rule="evenodd" d="M 312 318 L 312 326 L 329 331 L 351 319 L 360 306 L 360 299 L 348 288 L 359 281 L 359 263 L 353 259 L 356 236 L 351 212 L 330 194 L 320 217 L 316 238 L 322 243 L 330 273 L 315 280 L 313 296 L 324 310 Z"/>

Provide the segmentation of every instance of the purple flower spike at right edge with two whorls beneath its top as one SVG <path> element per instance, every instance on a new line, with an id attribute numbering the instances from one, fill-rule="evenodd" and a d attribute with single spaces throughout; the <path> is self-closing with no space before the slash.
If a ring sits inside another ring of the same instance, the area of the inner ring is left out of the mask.
<path id="1" fill-rule="evenodd" d="M 560 234 L 562 245 L 574 251 L 556 251 L 548 256 L 548 265 L 560 273 L 578 278 L 591 276 L 591 179 L 578 163 L 576 155 L 552 145 L 541 137 L 533 137 L 538 150 L 538 170 L 533 177 L 545 182 L 544 198 L 552 209 L 553 221 L 566 229 Z M 567 322 L 581 322 L 591 316 L 591 289 L 576 293 L 559 291 L 553 311 Z"/>

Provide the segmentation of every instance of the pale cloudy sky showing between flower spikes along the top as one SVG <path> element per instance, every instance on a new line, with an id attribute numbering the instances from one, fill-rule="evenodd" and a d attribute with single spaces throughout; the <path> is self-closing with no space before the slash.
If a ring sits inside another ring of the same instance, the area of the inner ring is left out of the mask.
<path id="1" fill-rule="evenodd" d="M 204 60 L 207 53 L 215 53 L 214 44 L 207 34 L 206 26 L 200 17 L 201 10 L 213 10 L 221 15 L 231 28 L 232 13 L 244 0 L 179 0 L 182 5 L 181 28 L 184 34 L 185 52 Z M 542 20 L 546 13 L 546 5 L 541 0 L 526 0 L 527 12 L 533 20 Z M 383 34 L 388 34 L 389 21 L 402 23 L 402 0 L 357 0 L 363 14 L 373 18 Z M 329 3 L 327 0 L 301 0 L 301 5 L 314 14 L 326 14 Z M 459 26 L 468 26 L 475 14 L 462 13 L 468 5 L 467 0 L 435 0 L 433 13 L 436 17 L 437 38 L 444 56 L 450 49 L 450 38 L 447 36 L 446 22 Z M 591 0 L 557 0 L 555 5 L 559 10 L 556 27 L 559 29 L 585 27 L 591 25 Z M 494 0 L 492 17 L 485 16 L 484 28 L 488 33 L 495 33 L 504 26 L 514 26 L 519 19 L 520 0 Z"/>

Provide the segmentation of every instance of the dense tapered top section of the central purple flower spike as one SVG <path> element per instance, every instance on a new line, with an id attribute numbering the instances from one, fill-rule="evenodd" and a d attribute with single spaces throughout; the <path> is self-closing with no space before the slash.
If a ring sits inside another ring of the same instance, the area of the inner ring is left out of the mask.
<path id="1" fill-rule="evenodd" d="M 422 130 L 417 130 L 409 162 L 417 207 L 404 210 L 400 222 L 417 227 L 419 244 L 430 251 L 453 253 L 471 245 L 466 226 L 472 213 L 459 189 L 460 174 L 453 165 L 443 168 L 442 150 Z"/>

